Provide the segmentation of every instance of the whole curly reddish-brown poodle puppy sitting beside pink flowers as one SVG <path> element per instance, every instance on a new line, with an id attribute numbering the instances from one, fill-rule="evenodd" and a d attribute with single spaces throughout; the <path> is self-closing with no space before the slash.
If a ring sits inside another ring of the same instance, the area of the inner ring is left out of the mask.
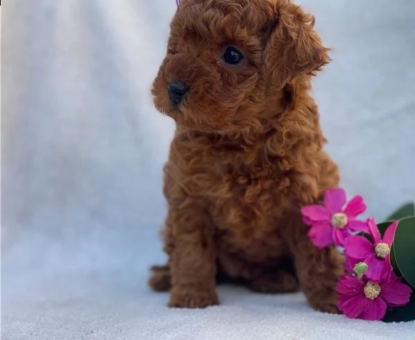
<path id="1" fill-rule="evenodd" d="M 177 123 L 164 168 L 168 264 L 150 286 L 172 307 L 218 304 L 218 278 L 257 292 L 301 287 L 337 312 L 343 272 L 317 249 L 300 207 L 337 186 L 310 96 L 329 62 L 314 17 L 289 0 L 183 0 L 152 94 Z"/>

